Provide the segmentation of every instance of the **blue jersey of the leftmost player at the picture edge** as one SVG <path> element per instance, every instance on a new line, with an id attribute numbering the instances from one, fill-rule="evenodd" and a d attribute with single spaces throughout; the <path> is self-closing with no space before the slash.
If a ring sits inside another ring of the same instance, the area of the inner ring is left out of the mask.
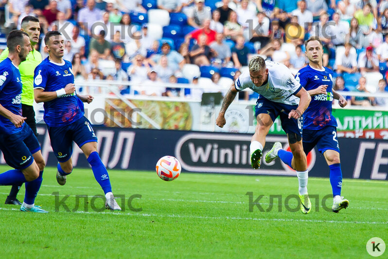
<path id="1" fill-rule="evenodd" d="M 7 57 L 0 63 L 0 104 L 8 111 L 20 116 L 21 88 L 19 69 Z M 16 128 L 9 119 L 0 115 L 0 133 L 13 134 L 19 132 L 22 128 Z"/>

